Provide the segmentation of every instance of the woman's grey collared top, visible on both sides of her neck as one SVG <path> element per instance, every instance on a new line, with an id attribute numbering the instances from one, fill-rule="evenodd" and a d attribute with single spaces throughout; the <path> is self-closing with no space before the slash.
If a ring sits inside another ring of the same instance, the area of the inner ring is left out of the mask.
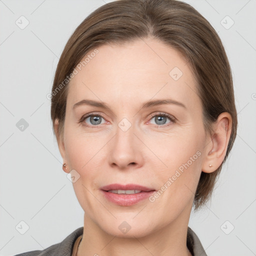
<path id="1" fill-rule="evenodd" d="M 62 242 L 43 250 L 32 250 L 14 256 L 71 256 L 74 242 L 83 233 L 83 226 L 70 233 Z M 188 226 L 186 244 L 193 256 L 207 256 L 195 232 Z"/>

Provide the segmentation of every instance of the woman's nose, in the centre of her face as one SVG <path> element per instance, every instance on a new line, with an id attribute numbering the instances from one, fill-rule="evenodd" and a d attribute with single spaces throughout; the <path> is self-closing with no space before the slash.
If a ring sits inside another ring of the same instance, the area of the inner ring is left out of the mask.
<path id="1" fill-rule="evenodd" d="M 122 125 L 124 123 L 124 125 Z M 120 122 L 114 137 L 109 141 L 108 160 L 117 169 L 139 168 L 143 165 L 143 143 L 135 125 Z M 128 127 L 128 126 L 129 127 Z"/>

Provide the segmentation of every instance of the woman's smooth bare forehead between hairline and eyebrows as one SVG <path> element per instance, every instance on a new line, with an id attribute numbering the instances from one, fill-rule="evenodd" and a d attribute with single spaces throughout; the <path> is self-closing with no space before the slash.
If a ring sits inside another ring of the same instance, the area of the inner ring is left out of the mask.
<path id="1" fill-rule="evenodd" d="M 192 70 L 172 47 L 155 39 L 138 39 L 96 49 L 96 54 L 91 54 L 93 50 L 88 52 L 87 61 L 76 68 L 78 72 L 69 84 L 67 105 L 84 97 L 106 102 L 119 100 L 120 104 L 166 95 L 191 104 L 198 100 Z"/>

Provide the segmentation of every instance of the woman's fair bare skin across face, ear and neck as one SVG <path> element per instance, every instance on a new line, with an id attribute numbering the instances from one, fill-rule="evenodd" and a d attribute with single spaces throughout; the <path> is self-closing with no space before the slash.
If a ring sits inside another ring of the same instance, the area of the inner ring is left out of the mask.
<path id="1" fill-rule="evenodd" d="M 161 41 L 137 39 L 97 49 L 95 57 L 71 79 L 63 140 L 58 139 L 65 171 L 74 169 L 80 175 L 73 183 L 84 210 L 77 255 L 191 255 L 186 233 L 196 186 L 201 171 L 212 172 L 223 161 L 231 116 L 221 113 L 213 126 L 215 133 L 206 134 L 189 65 Z M 175 66 L 183 73 L 176 81 L 169 75 Z M 175 104 L 140 108 L 142 102 L 164 98 L 186 108 Z M 82 99 L 103 101 L 110 110 L 89 105 L 73 110 Z M 164 116 L 160 122 L 159 112 L 171 115 L 175 122 Z M 87 113 L 100 113 L 100 124 L 89 117 L 79 122 Z M 131 124 L 126 131 L 118 127 L 123 118 Z M 56 120 L 55 129 L 57 126 Z M 120 206 L 101 194 L 100 187 L 111 183 L 161 189 L 197 151 L 200 156 L 153 202 L 145 199 Z M 118 228 L 123 221 L 131 227 L 126 233 Z"/>

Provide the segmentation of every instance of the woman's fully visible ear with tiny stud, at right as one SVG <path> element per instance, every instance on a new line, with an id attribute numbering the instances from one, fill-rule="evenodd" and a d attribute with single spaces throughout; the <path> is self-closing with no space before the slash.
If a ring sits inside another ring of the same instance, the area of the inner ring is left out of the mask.
<path id="1" fill-rule="evenodd" d="M 206 173 L 216 170 L 224 160 L 231 134 L 232 117 L 228 112 L 222 112 L 213 125 L 214 133 L 206 139 L 206 156 L 202 164 L 202 171 Z"/>

